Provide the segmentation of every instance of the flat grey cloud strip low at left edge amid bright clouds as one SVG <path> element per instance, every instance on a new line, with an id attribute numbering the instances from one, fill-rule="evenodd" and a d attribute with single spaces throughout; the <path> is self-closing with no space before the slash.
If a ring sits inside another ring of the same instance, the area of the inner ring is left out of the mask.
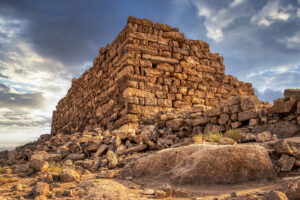
<path id="1" fill-rule="evenodd" d="M 11 92 L 10 88 L 0 84 L 0 107 L 1 108 L 40 108 L 45 99 L 41 93 L 18 94 Z"/>

